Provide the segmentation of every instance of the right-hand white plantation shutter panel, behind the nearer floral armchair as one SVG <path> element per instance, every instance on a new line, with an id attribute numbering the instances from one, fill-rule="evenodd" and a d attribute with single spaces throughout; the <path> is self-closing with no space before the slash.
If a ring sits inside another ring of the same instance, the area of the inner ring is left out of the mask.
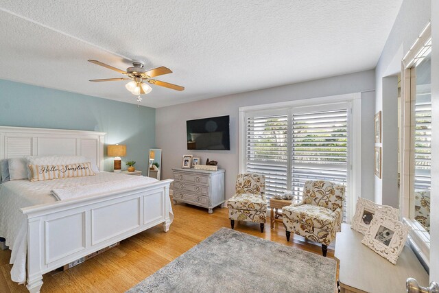
<path id="1" fill-rule="evenodd" d="M 318 109 L 326 110 L 318 110 Z M 331 109 L 333 108 L 333 109 Z M 348 181 L 348 107 L 320 106 L 292 115 L 292 194 L 300 200 L 307 180 Z M 346 189 L 347 190 L 347 189 Z M 346 194 L 345 199 L 348 196 Z M 346 218 L 344 201 L 344 218 Z"/>

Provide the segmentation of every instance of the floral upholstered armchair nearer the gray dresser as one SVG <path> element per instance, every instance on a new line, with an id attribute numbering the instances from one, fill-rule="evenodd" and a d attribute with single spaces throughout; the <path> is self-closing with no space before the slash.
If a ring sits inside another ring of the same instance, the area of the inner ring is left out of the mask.
<path id="1" fill-rule="evenodd" d="M 265 176 L 259 174 L 238 174 L 236 194 L 227 201 L 230 226 L 235 221 L 259 223 L 261 233 L 267 219 L 267 199 L 265 198 Z"/>

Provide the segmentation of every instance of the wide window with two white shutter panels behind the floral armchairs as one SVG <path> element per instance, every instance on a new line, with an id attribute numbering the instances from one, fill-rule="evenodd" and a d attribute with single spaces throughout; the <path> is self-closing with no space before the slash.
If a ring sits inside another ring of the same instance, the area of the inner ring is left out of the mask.
<path id="1" fill-rule="evenodd" d="M 350 220 L 352 102 L 266 108 L 240 109 L 240 172 L 264 174 L 267 198 L 291 190 L 300 200 L 307 180 L 344 184 Z"/>

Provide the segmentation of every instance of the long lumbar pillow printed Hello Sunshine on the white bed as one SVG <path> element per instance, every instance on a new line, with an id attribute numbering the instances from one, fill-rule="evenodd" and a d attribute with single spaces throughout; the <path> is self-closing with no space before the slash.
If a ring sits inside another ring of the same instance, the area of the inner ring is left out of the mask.
<path id="1" fill-rule="evenodd" d="M 29 171 L 31 181 L 96 175 L 91 169 L 90 162 L 68 165 L 29 165 Z"/>

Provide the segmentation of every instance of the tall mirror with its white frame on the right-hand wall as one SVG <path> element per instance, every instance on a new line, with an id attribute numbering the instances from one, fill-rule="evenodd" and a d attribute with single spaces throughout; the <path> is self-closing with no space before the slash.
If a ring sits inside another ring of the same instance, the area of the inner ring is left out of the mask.
<path id="1" fill-rule="evenodd" d="M 431 186 L 431 27 L 403 59 L 401 74 L 401 212 L 410 237 L 429 262 Z"/>

